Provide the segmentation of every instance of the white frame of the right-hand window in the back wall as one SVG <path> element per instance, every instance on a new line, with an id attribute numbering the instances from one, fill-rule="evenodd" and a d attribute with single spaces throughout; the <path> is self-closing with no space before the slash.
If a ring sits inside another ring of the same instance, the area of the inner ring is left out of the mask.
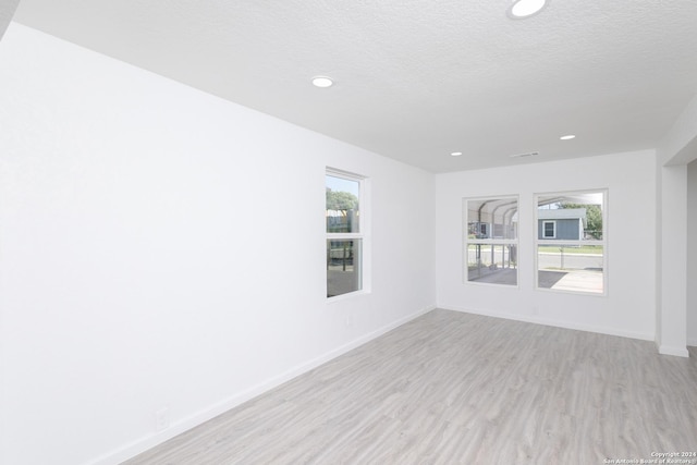
<path id="1" fill-rule="evenodd" d="M 535 245 L 534 245 L 534 274 L 535 274 L 535 290 L 539 292 L 551 292 L 551 293 L 562 293 L 562 294 L 576 294 L 576 295 L 586 295 L 586 296 L 595 296 L 595 297 L 607 297 L 609 294 L 609 267 L 608 267 L 608 205 L 609 205 L 609 189 L 606 188 L 592 188 L 592 189 L 578 189 L 578 191 L 553 191 L 553 192 L 543 192 L 534 194 L 534 209 L 535 209 L 535 228 L 536 230 L 539 228 L 539 205 L 541 197 L 560 197 L 566 198 L 574 195 L 588 195 L 588 194 L 602 194 L 602 204 L 601 204 L 601 212 L 602 212 L 602 238 L 601 240 L 587 240 L 580 237 L 578 240 L 561 240 L 558 237 L 543 237 L 539 238 L 538 231 L 535 231 Z M 547 221 L 555 221 L 555 220 L 541 220 L 543 223 Z M 542 236 L 545 235 L 545 228 L 542 227 Z M 554 225 L 554 235 L 557 236 L 557 225 Z M 539 282 L 539 249 L 540 246 L 583 246 L 583 245 L 597 245 L 602 246 L 602 292 L 590 292 L 590 291 L 573 291 L 573 290 L 564 290 L 564 289 L 551 289 L 551 287 L 541 287 Z"/>

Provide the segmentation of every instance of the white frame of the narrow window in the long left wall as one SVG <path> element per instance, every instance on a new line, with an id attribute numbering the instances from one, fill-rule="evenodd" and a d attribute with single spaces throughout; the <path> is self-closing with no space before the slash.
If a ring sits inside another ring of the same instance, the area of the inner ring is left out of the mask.
<path id="1" fill-rule="evenodd" d="M 353 181 L 358 183 L 358 231 L 357 232 L 329 232 L 327 231 L 327 203 L 325 200 L 325 250 L 327 249 L 327 243 L 329 241 L 359 241 L 360 246 L 360 259 L 358 261 L 358 289 L 355 291 L 346 292 L 343 294 L 327 296 L 327 302 L 338 302 L 345 298 L 351 298 L 356 295 L 366 294 L 370 292 L 370 238 L 369 238 L 369 180 L 368 178 L 352 173 L 344 170 L 327 167 L 325 170 L 325 192 L 327 191 L 327 176 L 339 178 L 346 181 Z M 329 289 L 329 269 L 326 270 L 325 276 L 326 291 Z M 328 292 L 325 293 L 326 295 Z"/>

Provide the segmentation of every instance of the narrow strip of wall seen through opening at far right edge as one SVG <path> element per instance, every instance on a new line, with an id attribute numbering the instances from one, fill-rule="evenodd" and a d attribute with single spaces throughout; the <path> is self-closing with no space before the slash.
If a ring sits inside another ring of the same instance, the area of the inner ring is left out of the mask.
<path id="1" fill-rule="evenodd" d="M 687 166 L 687 344 L 697 346 L 697 160 Z"/>

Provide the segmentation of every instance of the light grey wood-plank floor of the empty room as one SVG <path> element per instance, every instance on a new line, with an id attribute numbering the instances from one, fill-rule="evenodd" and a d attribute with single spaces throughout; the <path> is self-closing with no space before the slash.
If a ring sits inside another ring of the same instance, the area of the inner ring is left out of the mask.
<path id="1" fill-rule="evenodd" d="M 433 310 L 132 461 L 602 464 L 697 451 L 697 350 Z M 695 462 L 697 463 L 697 462 Z"/>

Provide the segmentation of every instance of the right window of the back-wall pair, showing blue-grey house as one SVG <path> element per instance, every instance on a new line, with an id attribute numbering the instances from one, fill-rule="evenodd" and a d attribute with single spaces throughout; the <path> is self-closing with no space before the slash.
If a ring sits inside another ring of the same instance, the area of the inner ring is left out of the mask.
<path id="1" fill-rule="evenodd" d="M 537 287 L 585 294 L 607 292 L 607 191 L 539 194 Z"/>

